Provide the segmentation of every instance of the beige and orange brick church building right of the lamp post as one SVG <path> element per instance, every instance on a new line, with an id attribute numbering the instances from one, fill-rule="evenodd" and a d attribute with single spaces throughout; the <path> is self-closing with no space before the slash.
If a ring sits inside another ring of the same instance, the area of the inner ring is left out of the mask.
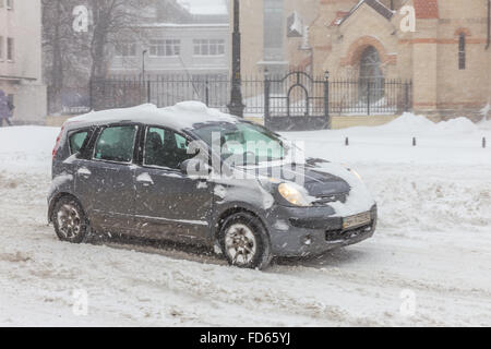
<path id="1" fill-rule="evenodd" d="M 491 103 L 489 7 L 489 0 L 243 0 L 242 75 L 267 68 L 328 71 L 375 86 L 412 81 L 416 112 L 480 120 Z"/>

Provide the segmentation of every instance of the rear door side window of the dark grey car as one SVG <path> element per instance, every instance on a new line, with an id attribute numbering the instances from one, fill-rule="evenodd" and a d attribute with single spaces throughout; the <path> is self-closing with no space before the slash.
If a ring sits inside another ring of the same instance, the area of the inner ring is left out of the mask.
<path id="1" fill-rule="evenodd" d="M 98 160 L 131 163 L 133 159 L 136 127 L 111 127 L 100 133 L 94 151 Z"/>

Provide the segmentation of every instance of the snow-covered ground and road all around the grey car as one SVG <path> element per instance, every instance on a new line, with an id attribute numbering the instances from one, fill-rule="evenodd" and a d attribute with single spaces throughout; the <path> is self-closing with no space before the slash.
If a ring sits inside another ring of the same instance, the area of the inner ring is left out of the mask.
<path id="1" fill-rule="evenodd" d="M 46 225 L 57 133 L 0 129 L 0 325 L 491 325 L 491 123 L 286 134 L 357 169 L 381 221 L 369 241 L 263 273 L 189 249 L 59 242 Z"/>

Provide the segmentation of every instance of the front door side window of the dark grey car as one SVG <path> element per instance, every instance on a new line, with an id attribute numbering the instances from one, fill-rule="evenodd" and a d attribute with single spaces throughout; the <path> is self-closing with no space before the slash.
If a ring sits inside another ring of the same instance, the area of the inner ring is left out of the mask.
<path id="1" fill-rule="evenodd" d="M 188 154 L 188 141 L 182 135 L 160 128 L 148 128 L 145 137 L 144 165 L 179 169 Z"/>

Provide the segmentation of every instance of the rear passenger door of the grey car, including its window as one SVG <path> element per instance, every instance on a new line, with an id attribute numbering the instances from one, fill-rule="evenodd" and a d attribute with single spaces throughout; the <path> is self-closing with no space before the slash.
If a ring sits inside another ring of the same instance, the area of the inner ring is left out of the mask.
<path id="1" fill-rule="evenodd" d="M 103 127 L 85 158 L 76 164 L 75 192 L 95 229 L 119 232 L 134 229 L 134 157 L 136 124 Z"/>

